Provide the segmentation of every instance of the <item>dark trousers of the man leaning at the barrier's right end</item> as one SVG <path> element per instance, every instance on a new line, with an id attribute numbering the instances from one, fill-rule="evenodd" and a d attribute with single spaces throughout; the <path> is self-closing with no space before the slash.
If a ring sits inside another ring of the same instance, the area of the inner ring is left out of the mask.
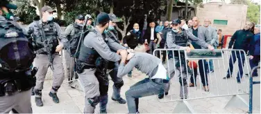
<path id="1" fill-rule="evenodd" d="M 240 79 L 243 76 L 243 68 L 244 68 L 244 61 L 245 61 L 245 56 L 244 56 L 243 52 L 239 53 L 239 51 L 237 51 L 237 52 L 232 51 L 230 59 L 229 59 L 229 68 L 228 68 L 227 77 L 232 76 L 234 64 L 235 64 L 235 61 L 237 61 L 237 59 L 239 59 L 239 61 L 238 61 L 239 72 L 237 73 L 237 82 L 240 82 Z"/>

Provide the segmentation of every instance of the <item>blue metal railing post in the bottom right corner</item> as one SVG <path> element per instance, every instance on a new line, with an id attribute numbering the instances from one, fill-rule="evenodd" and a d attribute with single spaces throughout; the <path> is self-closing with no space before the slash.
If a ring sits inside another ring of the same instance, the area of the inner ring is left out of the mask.
<path id="1" fill-rule="evenodd" d="M 260 82 L 253 82 L 253 72 L 256 69 L 260 69 L 260 66 L 255 66 L 250 73 L 249 77 L 249 113 L 253 111 L 253 84 L 260 84 Z"/>

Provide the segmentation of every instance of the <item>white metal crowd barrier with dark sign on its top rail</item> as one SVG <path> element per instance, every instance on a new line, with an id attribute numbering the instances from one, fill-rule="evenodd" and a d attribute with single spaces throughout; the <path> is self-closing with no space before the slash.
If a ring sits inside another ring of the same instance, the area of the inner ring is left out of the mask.
<path id="1" fill-rule="evenodd" d="M 247 60 L 244 50 L 195 49 L 191 50 L 190 53 L 186 53 L 184 50 L 156 49 L 153 51 L 153 55 L 162 59 L 162 53 L 164 51 L 166 53 L 166 60 L 165 63 L 162 64 L 167 69 L 167 74 L 171 77 L 171 79 L 169 81 L 169 95 L 165 95 L 163 101 L 162 99 L 159 100 L 160 102 L 178 102 L 178 105 L 174 109 L 174 113 L 195 113 L 189 103 L 191 99 L 206 99 L 225 96 L 233 97 L 224 108 L 229 106 L 245 106 L 249 108 L 248 102 L 240 96 L 249 94 L 249 79 L 247 79 L 249 77 L 244 76 L 244 73 L 249 74 L 249 64 L 246 62 L 246 67 L 244 68 L 244 66 L 242 66 L 242 64 L 244 65 L 244 61 Z M 173 56 L 176 60 L 171 59 L 171 56 Z M 183 59 L 185 61 L 183 64 L 185 64 L 184 66 L 187 70 L 182 67 L 182 62 L 178 62 Z M 205 74 L 206 70 L 210 71 L 209 64 L 211 59 L 214 73 Z M 188 63 L 193 63 L 192 61 L 196 64 L 190 64 L 189 67 Z M 237 61 L 235 64 L 232 64 L 233 68 L 231 65 L 229 67 L 229 63 L 231 61 Z M 208 66 L 206 65 L 207 63 Z M 180 68 L 180 70 L 177 70 L 178 68 Z M 239 81 L 237 81 L 237 73 L 241 68 L 243 71 L 242 78 L 238 78 Z M 200 71 L 203 75 L 200 75 Z M 178 76 L 179 73 L 180 75 Z M 229 75 L 231 78 L 226 77 L 226 75 Z M 195 76 L 196 78 L 192 78 Z M 182 79 L 180 80 L 178 77 L 181 77 Z M 183 78 L 187 80 L 183 80 Z M 181 86 L 179 80 L 182 82 Z M 184 84 L 184 81 L 187 82 L 187 84 Z M 203 85 L 207 85 L 207 82 L 209 91 L 204 91 Z M 192 87 L 190 87 L 190 83 L 194 83 L 195 86 L 191 85 Z M 165 92 L 167 92 L 167 90 L 165 90 Z M 180 94 L 178 95 L 177 93 Z M 185 96 L 186 94 L 187 97 Z"/>

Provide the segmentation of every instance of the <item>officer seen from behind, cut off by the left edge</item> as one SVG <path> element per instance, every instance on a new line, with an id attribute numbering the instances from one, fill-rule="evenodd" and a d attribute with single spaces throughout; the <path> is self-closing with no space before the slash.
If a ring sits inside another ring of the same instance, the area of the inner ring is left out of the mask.
<path id="1" fill-rule="evenodd" d="M 31 88 L 35 73 L 31 70 L 35 53 L 31 40 L 14 20 L 8 1 L 0 1 L 0 113 L 32 113 Z"/>

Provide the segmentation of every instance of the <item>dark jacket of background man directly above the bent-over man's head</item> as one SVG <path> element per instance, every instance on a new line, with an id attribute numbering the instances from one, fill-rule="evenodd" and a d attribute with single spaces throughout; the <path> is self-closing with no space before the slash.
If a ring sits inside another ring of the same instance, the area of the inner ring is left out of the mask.
<path id="1" fill-rule="evenodd" d="M 141 32 L 135 32 L 134 30 L 130 30 L 127 35 L 124 37 L 124 44 L 128 44 L 128 47 L 135 48 L 137 44 L 143 44 L 144 41 L 142 39 Z"/>

